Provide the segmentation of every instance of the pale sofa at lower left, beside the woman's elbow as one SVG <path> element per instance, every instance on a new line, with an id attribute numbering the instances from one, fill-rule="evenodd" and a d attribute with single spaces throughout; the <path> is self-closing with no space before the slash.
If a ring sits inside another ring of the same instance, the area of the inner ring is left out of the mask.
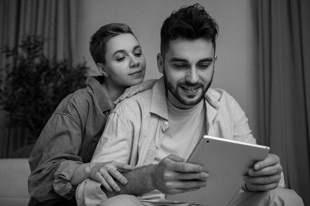
<path id="1" fill-rule="evenodd" d="M 0 159 L 0 206 L 27 206 L 28 158 Z"/>

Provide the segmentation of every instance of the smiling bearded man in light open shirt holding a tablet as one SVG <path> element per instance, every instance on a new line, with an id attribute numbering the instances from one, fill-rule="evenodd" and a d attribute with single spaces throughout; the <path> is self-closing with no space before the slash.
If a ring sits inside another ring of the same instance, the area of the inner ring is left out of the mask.
<path id="1" fill-rule="evenodd" d="M 209 88 L 217 35 L 216 22 L 199 4 L 183 7 L 164 21 L 157 55 L 163 78 L 151 90 L 117 105 L 92 159 L 139 168 L 124 172 L 128 183 L 120 185 L 120 192 L 85 180 L 76 193 L 79 205 L 191 205 L 165 200 L 164 194 L 206 186 L 209 174 L 185 162 L 202 135 L 256 143 L 238 103 L 224 90 Z M 230 205 L 303 205 L 294 191 L 277 188 L 284 187 L 281 172 L 279 158 L 268 155 L 249 171 L 243 187 L 267 192 L 240 193 Z"/>

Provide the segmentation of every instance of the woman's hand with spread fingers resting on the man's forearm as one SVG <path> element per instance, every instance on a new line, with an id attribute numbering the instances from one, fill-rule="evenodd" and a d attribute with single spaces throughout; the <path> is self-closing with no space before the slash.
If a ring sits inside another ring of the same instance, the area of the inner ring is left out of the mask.
<path id="1" fill-rule="evenodd" d="M 85 168 L 85 171 L 92 179 L 100 182 L 108 191 L 112 192 L 113 188 L 116 192 L 119 192 L 120 187 L 113 177 L 123 185 L 127 184 L 127 179 L 117 169 L 129 171 L 135 168 L 135 166 L 111 161 L 106 163 L 90 163 Z"/>

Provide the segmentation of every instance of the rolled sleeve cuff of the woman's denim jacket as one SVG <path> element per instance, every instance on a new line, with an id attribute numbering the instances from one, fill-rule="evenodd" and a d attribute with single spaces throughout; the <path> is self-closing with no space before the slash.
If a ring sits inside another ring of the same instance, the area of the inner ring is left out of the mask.
<path id="1" fill-rule="evenodd" d="M 83 163 L 75 161 L 63 161 L 60 163 L 54 173 L 54 181 L 52 183 L 53 189 L 58 195 L 68 200 L 71 200 L 75 195 L 77 186 L 71 185 L 70 180 L 76 167 L 81 164 Z"/>

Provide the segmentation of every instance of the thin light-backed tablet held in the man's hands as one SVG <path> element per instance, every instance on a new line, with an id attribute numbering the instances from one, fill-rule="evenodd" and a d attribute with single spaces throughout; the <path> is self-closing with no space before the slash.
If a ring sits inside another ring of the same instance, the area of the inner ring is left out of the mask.
<path id="1" fill-rule="evenodd" d="M 255 163 L 265 159 L 269 151 L 267 146 L 205 135 L 187 162 L 203 165 L 203 171 L 209 173 L 207 186 L 165 198 L 205 206 L 227 206 L 243 186 L 243 176 Z"/>

